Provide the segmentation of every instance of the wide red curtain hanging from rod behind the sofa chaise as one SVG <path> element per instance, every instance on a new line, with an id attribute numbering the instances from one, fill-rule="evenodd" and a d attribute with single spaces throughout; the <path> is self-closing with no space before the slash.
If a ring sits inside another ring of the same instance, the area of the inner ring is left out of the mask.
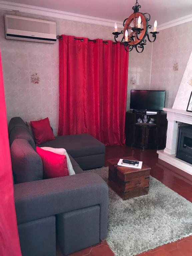
<path id="1" fill-rule="evenodd" d="M 62 35 L 58 135 L 89 133 L 106 145 L 124 144 L 127 72 L 123 45 Z"/>

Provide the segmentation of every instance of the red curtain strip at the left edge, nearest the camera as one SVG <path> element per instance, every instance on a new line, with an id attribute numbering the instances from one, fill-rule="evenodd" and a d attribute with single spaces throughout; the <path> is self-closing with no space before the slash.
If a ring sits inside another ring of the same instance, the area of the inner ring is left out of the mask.
<path id="1" fill-rule="evenodd" d="M 15 214 L 13 178 L 0 55 L 0 255 L 21 256 Z"/>

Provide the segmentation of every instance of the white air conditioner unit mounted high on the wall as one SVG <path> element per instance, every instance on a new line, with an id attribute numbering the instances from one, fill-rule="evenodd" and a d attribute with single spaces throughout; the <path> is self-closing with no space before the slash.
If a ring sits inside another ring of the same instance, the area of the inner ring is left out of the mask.
<path id="1" fill-rule="evenodd" d="M 5 38 L 54 44 L 56 22 L 6 14 Z"/>

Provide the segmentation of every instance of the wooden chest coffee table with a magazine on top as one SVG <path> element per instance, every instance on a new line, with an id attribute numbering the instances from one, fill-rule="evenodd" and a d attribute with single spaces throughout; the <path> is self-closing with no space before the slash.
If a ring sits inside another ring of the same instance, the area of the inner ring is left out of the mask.
<path id="1" fill-rule="evenodd" d="M 133 157 L 122 159 L 136 160 Z M 148 194 L 151 168 L 143 164 L 141 169 L 119 166 L 119 158 L 108 160 L 109 186 L 122 198 Z"/>

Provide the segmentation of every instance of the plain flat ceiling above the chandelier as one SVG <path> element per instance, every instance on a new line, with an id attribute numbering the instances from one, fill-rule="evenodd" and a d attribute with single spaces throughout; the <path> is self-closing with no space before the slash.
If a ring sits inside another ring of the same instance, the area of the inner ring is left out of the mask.
<path id="1" fill-rule="evenodd" d="M 44 7 L 59 11 L 83 14 L 98 18 L 121 21 L 133 13 L 136 0 L 4 0 Z M 163 24 L 192 14 L 192 0 L 138 0 L 140 12 L 151 14 L 151 22 Z"/>

